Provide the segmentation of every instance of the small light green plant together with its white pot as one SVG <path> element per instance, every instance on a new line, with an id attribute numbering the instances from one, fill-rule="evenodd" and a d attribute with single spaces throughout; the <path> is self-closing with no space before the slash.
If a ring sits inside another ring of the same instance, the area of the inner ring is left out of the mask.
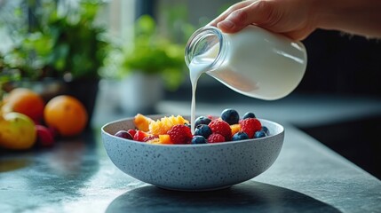
<path id="1" fill-rule="evenodd" d="M 119 75 L 123 76 L 121 99 L 130 114 L 155 113 L 165 90 L 174 91 L 186 76 L 185 43 L 164 35 L 156 21 L 143 15 L 136 20 L 133 40 L 120 49 Z M 133 101 L 131 101 L 133 100 Z"/>

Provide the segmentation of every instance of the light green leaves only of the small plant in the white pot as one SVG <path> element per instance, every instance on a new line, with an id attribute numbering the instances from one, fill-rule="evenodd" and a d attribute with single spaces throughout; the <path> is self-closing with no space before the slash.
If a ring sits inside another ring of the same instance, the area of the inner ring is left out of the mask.
<path id="1" fill-rule="evenodd" d="M 163 36 L 156 21 L 143 15 L 136 20 L 133 42 L 122 50 L 121 74 L 160 75 L 175 90 L 184 77 L 184 45 Z"/>

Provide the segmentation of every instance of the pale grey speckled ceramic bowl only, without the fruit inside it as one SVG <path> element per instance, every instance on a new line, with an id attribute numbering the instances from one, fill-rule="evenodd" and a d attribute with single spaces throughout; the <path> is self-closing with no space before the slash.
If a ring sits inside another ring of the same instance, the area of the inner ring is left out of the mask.
<path id="1" fill-rule="evenodd" d="M 270 136 L 202 145 L 152 145 L 115 137 L 118 130 L 134 128 L 133 118 L 109 122 L 101 132 L 111 161 L 131 177 L 166 189 L 207 191 L 242 183 L 274 163 L 282 149 L 284 129 L 275 122 L 259 121 Z"/>

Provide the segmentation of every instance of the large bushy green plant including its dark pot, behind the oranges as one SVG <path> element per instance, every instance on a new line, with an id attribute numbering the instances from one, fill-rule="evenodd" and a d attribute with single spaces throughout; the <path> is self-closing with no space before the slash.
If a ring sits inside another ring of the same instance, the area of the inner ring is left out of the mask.
<path id="1" fill-rule="evenodd" d="M 47 83 L 50 88 L 52 84 L 60 84 L 54 85 L 56 91 L 43 87 L 39 92 L 44 93 L 46 99 L 58 94 L 73 95 L 83 101 L 92 114 L 99 68 L 104 65 L 109 43 L 105 38 L 106 29 L 96 25 L 103 3 L 77 3 L 32 0 L 13 8 L 18 20 L 2 21 L 1 26 L 11 28 L 7 32 L 12 32 L 10 37 L 13 38 L 11 48 L 3 52 L 0 70 L 3 89 L 9 84 L 17 87 L 26 86 L 21 83 Z M 25 12 L 21 12 L 26 8 L 30 12 L 29 20 Z M 28 20 L 28 24 L 20 20 Z M 18 28 L 14 28 L 15 25 Z"/>

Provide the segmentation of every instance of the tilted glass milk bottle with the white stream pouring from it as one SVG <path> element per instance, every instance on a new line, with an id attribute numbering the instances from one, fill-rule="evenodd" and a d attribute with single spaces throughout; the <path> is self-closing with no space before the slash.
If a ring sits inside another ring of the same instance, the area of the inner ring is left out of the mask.
<path id="1" fill-rule="evenodd" d="M 192 83 L 192 132 L 196 85 L 203 73 L 243 95 L 274 100 L 294 91 L 306 71 L 303 43 L 256 26 L 235 34 L 200 28 L 189 38 L 185 59 Z"/>

